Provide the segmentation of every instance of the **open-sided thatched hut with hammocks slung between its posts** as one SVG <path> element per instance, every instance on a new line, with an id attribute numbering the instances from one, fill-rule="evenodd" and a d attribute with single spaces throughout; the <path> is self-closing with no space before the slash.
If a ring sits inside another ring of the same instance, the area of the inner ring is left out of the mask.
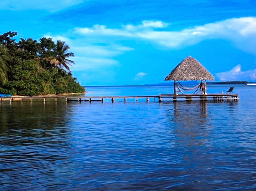
<path id="1" fill-rule="evenodd" d="M 172 70 L 171 73 L 169 73 L 168 76 L 165 77 L 165 80 L 174 81 L 174 94 L 177 94 L 177 91 L 180 91 L 183 94 L 182 90 L 196 90 L 195 93 L 201 92 L 202 94 L 206 94 L 206 80 L 214 80 L 214 78 L 201 63 L 193 57 L 187 56 Z M 201 82 L 193 88 L 185 87 L 179 82 L 188 80 L 200 80 Z M 204 84 L 203 80 L 205 81 Z"/>

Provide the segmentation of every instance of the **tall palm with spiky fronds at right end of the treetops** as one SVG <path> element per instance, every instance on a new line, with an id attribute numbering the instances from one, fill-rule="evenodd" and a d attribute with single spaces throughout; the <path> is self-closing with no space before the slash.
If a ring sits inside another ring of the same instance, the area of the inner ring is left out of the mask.
<path id="1" fill-rule="evenodd" d="M 65 68 L 68 72 L 70 72 L 69 66 L 72 66 L 72 64 L 75 64 L 75 62 L 67 59 L 74 56 L 72 52 L 66 53 L 69 49 L 70 47 L 65 44 L 64 41 L 57 40 L 57 45 L 54 50 L 56 52 L 56 56 L 48 57 L 47 60 L 51 63 L 51 65 L 54 65 L 58 68 Z"/>

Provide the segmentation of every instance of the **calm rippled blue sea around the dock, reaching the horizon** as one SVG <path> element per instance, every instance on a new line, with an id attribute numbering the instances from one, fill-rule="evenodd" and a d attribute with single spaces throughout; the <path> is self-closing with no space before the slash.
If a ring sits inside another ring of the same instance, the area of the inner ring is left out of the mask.
<path id="1" fill-rule="evenodd" d="M 238 102 L 0 103 L 0 190 L 256 190 L 256 86 Z M 88 96 L 172 87 L 87 87 Z"/>

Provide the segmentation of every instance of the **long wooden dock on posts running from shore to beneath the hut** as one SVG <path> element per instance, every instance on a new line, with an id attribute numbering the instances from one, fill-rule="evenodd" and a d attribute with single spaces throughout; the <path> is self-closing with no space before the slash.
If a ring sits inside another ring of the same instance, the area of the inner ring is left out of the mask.
<path id="1" fill-rule="evenodd" d="M 127 99 L 132 99 L 135 100 L 135 102 L 138 102 L 138 99 L 140 100 L 145 100 L 147 103 L 149 100 L 154 99 L 154 102 L 156 100 L 161 103 L 163 100 L 167 101 L 194 101 L 194 100 L 199 100 L 199 101 L 238 101 L 238 94 L 159 94 L 159 95 L 143 95 L 143 96 L 34 96 L 34 97 L 1 97 L 0 102 L 2 101 L 43 101 L 46 102 L 47 100 L 54 100 L 55 102 L 62 100 L 66 103 L 68 102 L 79 102 L 81 103 L 82 101 L 87 101 L 89 103 L 91 102 L 102 102 L 106 99 L 111 100 L 112 103 L 115 102 L 115 100 L 123 100 L 124 103 L 126 103 Z"/>

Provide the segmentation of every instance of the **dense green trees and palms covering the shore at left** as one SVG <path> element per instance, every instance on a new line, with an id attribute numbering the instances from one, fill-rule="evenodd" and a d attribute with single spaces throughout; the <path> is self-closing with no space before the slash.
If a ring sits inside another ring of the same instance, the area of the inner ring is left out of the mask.
<path id="1" fill-rule="evenodd" d="M 82 93 L 82 87 L 72 76 L 69 46 L 51 38 L 32 38 L 15 42 L 17 32 L 0 35 L 0 93 L 12 95 L 45 95 Z"/>

